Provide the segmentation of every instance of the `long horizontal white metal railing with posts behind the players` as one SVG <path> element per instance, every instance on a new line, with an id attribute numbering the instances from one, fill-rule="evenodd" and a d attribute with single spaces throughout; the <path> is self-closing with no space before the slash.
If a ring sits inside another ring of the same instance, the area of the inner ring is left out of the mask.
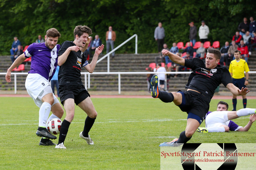
<path id="1" fill-rule="evenodd" d="M 84 75 L 84 86 L 87 89 L 90 89 L 90 76 L 91 74 L 117 74 L 118 75 L 118 94 L 121 94 L 121 74 L 157 74 L 159 72 L 81 72 L 81 75 Z M 161 72 L 164 74 L 190 74 L 190 71 L 172 71 L 172 72 Z M 249 71 L 249 74 L 256 73 L 256 71 Z M 0 73 L 0 75 L 5 75 L 6 73 Z M 12 72 L 11 76 L 14 75 L 14 94 L 17 94 L 17 75 L 27 75 L 28 73 L 17 73 L 17 72 Z M 87 76 L 88 75 L 88 76 Z M 87 78 L 88 77 L 88 78 Z M 12 78 L 12 77 L 11 77 Z"/>

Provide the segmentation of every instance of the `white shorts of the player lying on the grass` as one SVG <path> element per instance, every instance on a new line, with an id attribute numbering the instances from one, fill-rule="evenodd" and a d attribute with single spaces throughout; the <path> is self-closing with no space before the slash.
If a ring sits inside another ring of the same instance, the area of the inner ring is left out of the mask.
<path id="1" fill-rule="evenodd" d="M 208 114 L 205 118 L 205 127 L 219 127 L 220 125 L 229 124 L 228 111 L 215 111 Z"/>

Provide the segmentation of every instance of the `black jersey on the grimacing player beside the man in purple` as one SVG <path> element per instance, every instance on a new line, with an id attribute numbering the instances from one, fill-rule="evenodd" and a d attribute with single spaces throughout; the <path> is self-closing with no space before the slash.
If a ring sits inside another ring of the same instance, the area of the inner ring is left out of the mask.
<path id="1" fill-rule="evenodd" d="M 65 41 L 60 45 L 58 55 L 62 55 L 68 47 L 76 46 L 73 41 Z M 59 85 L 83 85 L 81 79 L 81 67 L 88 62 L 82 51 L 70 51 L 66 62 L 59 67 L 58 81 Z"/>

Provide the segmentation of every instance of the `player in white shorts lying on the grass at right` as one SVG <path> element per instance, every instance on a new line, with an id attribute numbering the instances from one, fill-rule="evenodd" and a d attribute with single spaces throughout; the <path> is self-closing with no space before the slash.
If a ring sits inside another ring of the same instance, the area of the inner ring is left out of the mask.
<path id="1" fill-rule="evenodd" d="M 239 111 L 228 112 L 228 103 L 220 101 L 217 104 L 217 111 L 208 112 L 205 116 L 205 127 L 198 128 L 198 132 L 208 133 L 208 132 L 228 132 L 228 131 L 248 131 L 253 122 L 256 120 L 255 109 L 244 108 Z M 222 111 L 222 112 L 221 112 Z M 246 113 L 247 112 L 247 113 Z M 242 114 L 243 113 L 243 114 Z M 239 116 L 238 116 L 239 115 Z M 238 118 L 240 116 L 250 116 L 250 120 L 246 126 L 238 126 L 231 119 Z"/>

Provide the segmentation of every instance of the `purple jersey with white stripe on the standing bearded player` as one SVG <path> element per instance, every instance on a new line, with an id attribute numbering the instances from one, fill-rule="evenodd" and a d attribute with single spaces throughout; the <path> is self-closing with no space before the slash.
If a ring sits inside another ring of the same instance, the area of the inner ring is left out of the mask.
<path id="1" fill-rule="evenodd" d="M 60 45 L 57 44 L 50 50 L 45 46 L 45 43 L 33 43 L 29 45 L 24 52 L 26 58 L 31 57 L 31 66 L 28 73 L 38 73 L 50 81 L 58 64 L 59 47 Z"/>

